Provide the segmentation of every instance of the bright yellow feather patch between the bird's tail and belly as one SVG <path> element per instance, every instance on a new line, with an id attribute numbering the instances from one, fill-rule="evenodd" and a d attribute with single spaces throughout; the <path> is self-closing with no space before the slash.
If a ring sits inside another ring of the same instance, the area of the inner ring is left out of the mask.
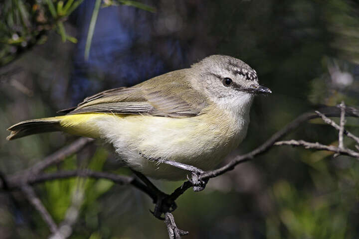
<path id="1" fill-rule="evenodd" d="M 61 129 L 67 133 L 90 138 L 99 138 L 99 128 L 95 124 L 98 119 L 106 119 L 113 117 L 112 114 L 91 113 L 91 114 L 78 114 L 58 116 L 56 119 L 60 120 Z M 121 117 L 117 115 L 117 117 Z"/>

